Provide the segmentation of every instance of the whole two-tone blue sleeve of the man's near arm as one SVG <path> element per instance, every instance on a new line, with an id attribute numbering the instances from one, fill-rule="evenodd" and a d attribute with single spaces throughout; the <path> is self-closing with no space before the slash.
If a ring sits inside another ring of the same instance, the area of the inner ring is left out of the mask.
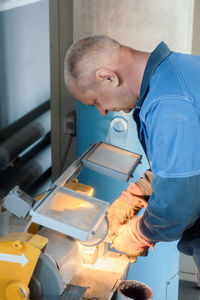
<path id="1" fill-rule="evenodd" d="M 185 100 L 158 102 L 145 127 L 153 193 L 139 229 L 151 242 L 177 240 L 200 216 L 199 111 Z"/>

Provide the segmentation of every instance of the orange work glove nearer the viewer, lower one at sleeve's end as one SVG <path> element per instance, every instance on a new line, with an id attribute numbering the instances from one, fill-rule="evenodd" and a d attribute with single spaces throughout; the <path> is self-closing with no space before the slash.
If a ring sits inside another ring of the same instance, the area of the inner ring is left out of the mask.
<path id="1" fill-rule="evenodd" d="M 154 244 L 149 243 L 138 232 L 138 222 L 141 217 L 133 217 L 127 224 L 121 225 L 111 248 L 124 252 L 129 258 L 146 256 L 149 247 L 154 248 Z"/>

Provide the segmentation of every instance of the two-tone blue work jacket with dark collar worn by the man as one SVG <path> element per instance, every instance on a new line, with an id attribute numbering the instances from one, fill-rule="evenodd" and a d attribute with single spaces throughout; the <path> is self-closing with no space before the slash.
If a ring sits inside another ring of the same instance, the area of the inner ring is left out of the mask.
<path id="1" fill-rule="evenodd" d="M 161 42 L 133 117 L 153 173 L 140 233 L 153 243 L 177 240 L 200 216 L 200 56 Z"/>

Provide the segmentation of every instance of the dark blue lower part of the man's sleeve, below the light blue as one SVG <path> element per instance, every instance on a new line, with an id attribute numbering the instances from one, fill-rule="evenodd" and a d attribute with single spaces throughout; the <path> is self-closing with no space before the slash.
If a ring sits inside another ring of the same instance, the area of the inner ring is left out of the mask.
<path id="1" fill-rule="evenodd" d="M 153 179 L 153 193 L 140 222 L 142 235 L 151 242 L 181 237 L 200 214 L 200 175 Z"/>

